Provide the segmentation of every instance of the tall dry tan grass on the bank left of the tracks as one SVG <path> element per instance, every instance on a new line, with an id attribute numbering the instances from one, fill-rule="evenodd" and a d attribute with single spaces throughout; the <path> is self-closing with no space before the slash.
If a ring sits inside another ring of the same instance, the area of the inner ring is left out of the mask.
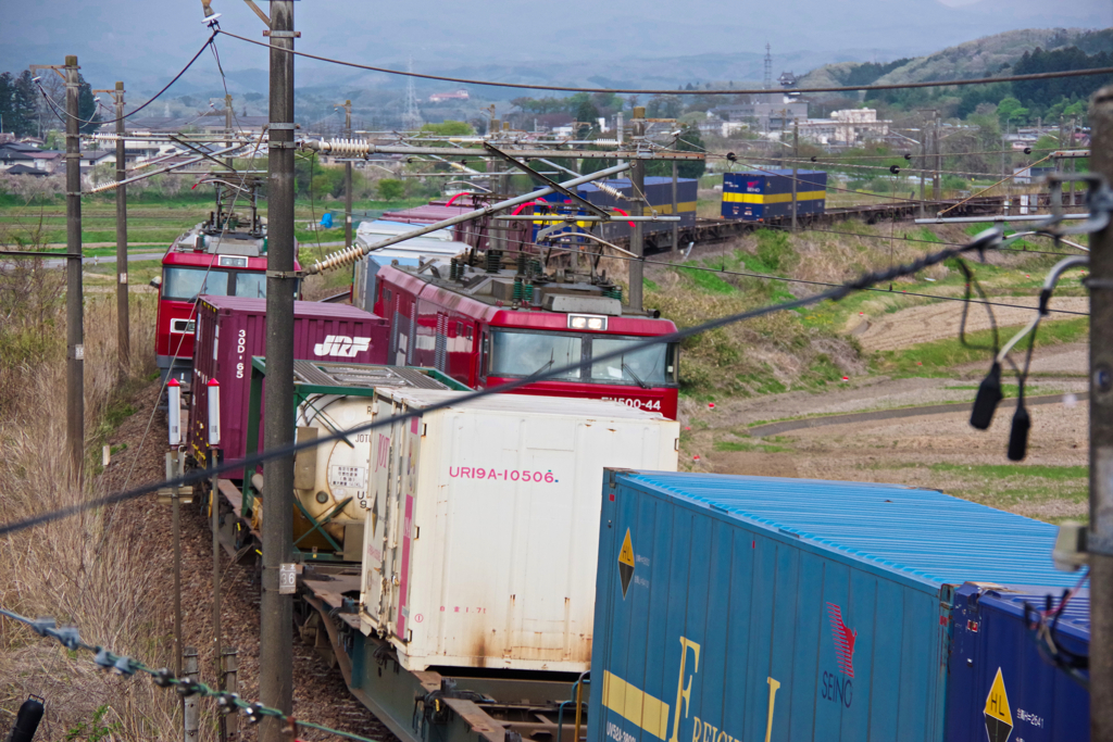
<path id="1" fill-rule="evenodd" d="M 66 321 L 61 271 L 0 266 L 0 492 L 6 521 L 76 505 L 107 494 L 89 475 L 83 488 L 69 485 L 66 456 Z M 122 383 L 116 369 L 115 298 L 86 300 L 86 441 L 105 434 L 106 410 L 125 389 L 151 370 L 154 300 L 134 296 L 135 362 Z M 90 445 L 96 448 L 96 445 Z M 99 454 L 99 452 L 98 452 Z M 99 455 L 98 455 L 99 458 Z M 87 471 L 93 471 L 89 466 Z M 0 541 L 0 604 L 30 616 L 73 624 L 81 637 L 148 663 L 168 652 L 152 588 L 160 576 L 134 555 L 141 547 L 138 524 L 117 520 L 106 533 L 107 513 L 41 525 Z M 29 693 L 46 698 L 39 739 L 90 739 L 97 730 L 115 739 L 169 739 L 174 699 L 142 677 L 104 673 L 86 653 L 75 655 L 53 641 L 11 622 L 0 623 L 0 726 L 10 723 Z M 85 725 L 83 728 L 81 725 Z M 75 736 L 68 736 L 77 731 Z"/>

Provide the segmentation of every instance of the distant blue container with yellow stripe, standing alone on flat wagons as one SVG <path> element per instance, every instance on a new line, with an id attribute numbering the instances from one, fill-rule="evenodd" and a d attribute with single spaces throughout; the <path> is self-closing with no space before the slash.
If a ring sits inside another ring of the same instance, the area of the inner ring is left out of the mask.
<path id="1" fill-rule="evenodd" d="M 796 215 L 824 212 L 827 204 L 827 174 L 796 171 Z M 792 171 L 722 174 L 722 218 L 769 221 L 792 216 Z"/>

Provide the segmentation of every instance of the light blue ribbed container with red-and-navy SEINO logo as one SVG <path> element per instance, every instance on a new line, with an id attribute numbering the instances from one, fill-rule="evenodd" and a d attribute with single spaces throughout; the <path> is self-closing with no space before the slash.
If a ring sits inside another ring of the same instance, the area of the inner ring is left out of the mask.
<path id="1" fill-rule="evenodd" d="M 944 739 L 954 591 L 1056 527 L 898 485 L 604 474 L 590 742 Z"/>

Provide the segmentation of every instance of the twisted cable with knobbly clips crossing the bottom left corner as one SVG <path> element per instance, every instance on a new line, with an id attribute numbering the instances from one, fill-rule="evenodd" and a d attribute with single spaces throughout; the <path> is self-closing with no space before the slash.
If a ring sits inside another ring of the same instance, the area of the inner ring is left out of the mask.
<path id="1" fill-rule="evenodd" d="M 22 616 L 13 611 L 4 609 L 0 609 L 0 615 L 30 626 L 31 631 L 39 636 L 48 636 L 50 639 L 58 640 L 58 642 L 70 652 L 77 652 L 78 650 L 91 652 L 93 654 L 93 663 L 101 670 L 115 672 L 119 675 L 134 675 L 137 672 L 146 673 L 151 676 L 154 683 L 159 687 L 173 687 L 184 698 L 200 695 L 204 698 L 215 699 L 220 713 L 228 714 L 236 711 L 243 711 L 247 716 L 247 720 L 253 724 L 258 723 L 264 716 L 276 716 L 285 722 L 288 722 L 295 728 L 307 726 L 322 732 L 327 732 L 328 734 L 335 734 L 336 736 L 355 740 L 356 742 L 374 742 L 373 740 L 368 740 L 365 736 L 359 736 L 358 734 L 353 734 L 351 732 L 342 732 L 341 730 L 332 729 L 323 724 L 295 720 L 293 716 L 287 716 L 278 709 L 270 709 L 258 702 L 249 703 L 244 701 L 237 693 L 214 690 L 205 683 L 198 683 L 197 681 L 189 679 L 183 680 L 180 677 L 175 677 L 174 673 L 169 670 L 155 670 L 138 660 L 116 654 L 115 652 L 110 652 L 102 646 L 87 644 L 81 641 L 77 626 L 62 626 L 59 629 L 53 619 L 28 619 L 27 616 Z"/>

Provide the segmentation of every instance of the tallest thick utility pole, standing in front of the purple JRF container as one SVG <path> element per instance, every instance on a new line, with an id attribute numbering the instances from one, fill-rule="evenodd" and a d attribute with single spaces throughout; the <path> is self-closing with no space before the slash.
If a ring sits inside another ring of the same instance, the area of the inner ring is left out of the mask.
<path id="1" fill-rule="evenodd" d="M 267 374 L 263 446 L 294 443 L 294 0 L 270 1 Z M 273 369 L 273 370 L 272 370 Z M 263 465 L 263 596 L 259 700 L 294 711 L 294 604 L 278 592 L 280 566 L 294 561 L 294 457 Z M 283 742 L 284 724 L 259 723 L 259 742 Z"/>

